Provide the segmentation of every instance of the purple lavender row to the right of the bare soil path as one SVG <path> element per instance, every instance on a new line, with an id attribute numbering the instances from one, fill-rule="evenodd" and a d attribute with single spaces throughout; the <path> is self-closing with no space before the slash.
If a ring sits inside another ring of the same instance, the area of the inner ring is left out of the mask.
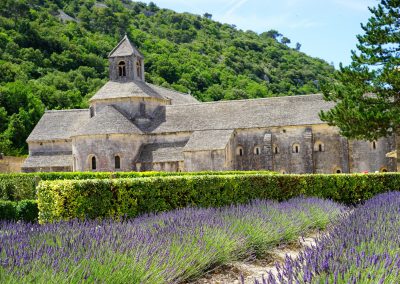
<path id="1" fill-rule="evenodd" d="M 400 283 L 400 192 L 378 195 L 255 283 Z"/>

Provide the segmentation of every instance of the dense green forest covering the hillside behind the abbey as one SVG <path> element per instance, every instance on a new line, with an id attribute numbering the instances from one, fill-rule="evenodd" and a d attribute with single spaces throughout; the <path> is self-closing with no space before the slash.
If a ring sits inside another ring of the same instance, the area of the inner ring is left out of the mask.
<path id="1" fill-rule="evenodd" d="M 278 31 L 211 17 L 130 0 L 1 0 L 0 152 L 27 153 L 45 109 L 88 107 L 124 34 L 145 55 L 148 82 L 202 101 L 315 93 L 334 72 Z"/>

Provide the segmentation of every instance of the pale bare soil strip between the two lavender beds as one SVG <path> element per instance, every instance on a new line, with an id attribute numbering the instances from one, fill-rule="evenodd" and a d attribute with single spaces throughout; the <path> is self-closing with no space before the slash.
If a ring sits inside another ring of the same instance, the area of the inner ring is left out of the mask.
<path id="1" fill-rule="evenodd" d="M 262 259 L 235 261 L 219 266 L 208 272 L 202 278 L 188 284 L 241 284 L 241 277 L 245 284 L 254 284 L 254 280 L 261 280 L 271 272 L 276 274 L 275 264 L 283 263 L 286 256 L 297 258 L 302 250 L 315 244 L 316 239 L 323 232 L 313 232 L 307 237 L 299 237 L 297 241 L 279 245 Z"/>

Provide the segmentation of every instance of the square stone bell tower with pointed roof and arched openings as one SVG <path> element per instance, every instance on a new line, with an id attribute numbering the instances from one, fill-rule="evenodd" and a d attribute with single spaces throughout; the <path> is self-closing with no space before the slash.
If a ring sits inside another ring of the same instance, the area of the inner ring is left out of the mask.
<path id="1" fill-rule="evenodd" d="M 127 35 L 108 55 L 110 81 L 144 81 L 144 56 Z"/>

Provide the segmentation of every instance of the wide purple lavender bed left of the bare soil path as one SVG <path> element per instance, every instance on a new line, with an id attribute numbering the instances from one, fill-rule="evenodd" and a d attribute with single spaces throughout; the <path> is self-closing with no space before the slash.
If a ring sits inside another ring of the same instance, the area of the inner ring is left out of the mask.
<path id="1" fill-rule="evenodd" d="M 322 229 L 344 209 L 296 198 L 186 208 L 123 222 L 0 223 L 0 282 L 182 282 Z"/>

